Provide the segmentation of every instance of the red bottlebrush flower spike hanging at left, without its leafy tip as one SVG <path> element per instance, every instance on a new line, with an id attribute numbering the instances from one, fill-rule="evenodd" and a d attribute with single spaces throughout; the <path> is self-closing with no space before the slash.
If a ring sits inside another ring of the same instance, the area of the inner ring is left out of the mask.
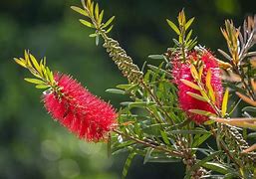
<path id="1" fill-rule="evenodd" d="M 116 123 L 113 106 L 67 75 L 56 74 L 54 79 L 59 92 L 43 95 L 45 107 L 53 118 L 87 141 L 106 139 Z"/>

